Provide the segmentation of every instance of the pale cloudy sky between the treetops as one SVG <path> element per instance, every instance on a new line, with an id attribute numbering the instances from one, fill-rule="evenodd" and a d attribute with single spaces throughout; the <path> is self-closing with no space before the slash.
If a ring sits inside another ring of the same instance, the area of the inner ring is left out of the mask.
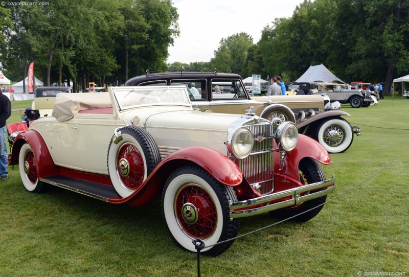
<path id="1" fill-rule="evenodd" d="M 210 61 L 222 38 L 245 32 L 257 43 L 261 31 L 278 17 L 291 17 L 303 0 L 173 0 L 180 36 L 167 62 Z"/>

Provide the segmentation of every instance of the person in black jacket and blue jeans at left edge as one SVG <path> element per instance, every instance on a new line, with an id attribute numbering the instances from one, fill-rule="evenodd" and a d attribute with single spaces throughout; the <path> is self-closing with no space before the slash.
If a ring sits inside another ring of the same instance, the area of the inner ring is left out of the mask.
<path id="1" fill-rule="evenodd" d="M 7 127 L 6 120 L 11 116 L 11 102 L 7 96 L 0 92 L 0 176 L 2 181 L 7 181 Z"/>

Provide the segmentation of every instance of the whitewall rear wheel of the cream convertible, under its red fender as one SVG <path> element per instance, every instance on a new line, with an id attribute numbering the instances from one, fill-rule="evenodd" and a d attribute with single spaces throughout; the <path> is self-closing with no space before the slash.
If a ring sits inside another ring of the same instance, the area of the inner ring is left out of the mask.
<path id="1" fill-rule="evenodd" d="M 38 178 L 37 166 L 31 146 L 28 143 L 22 145 L 18 155 L 18 169 L 24 187 L 32 193 L 42 193 L 46 189 L 46 185 Z"/>

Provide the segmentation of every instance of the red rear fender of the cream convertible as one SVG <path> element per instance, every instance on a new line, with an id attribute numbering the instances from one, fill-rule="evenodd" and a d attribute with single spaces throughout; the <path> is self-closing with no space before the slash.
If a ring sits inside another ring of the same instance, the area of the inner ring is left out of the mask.
<path id="1" fill-rule="evenodd" d="M 28 130 L 17 135 L 11 152 L 10 165 L 18 165 L 20 149 L 25 143 L 30 145 L 36 158 L 37 165 L 41 165 L 37 166 L 38 177 L 47 177 L 58 174 L 58 169 L 56 165 L 54 165 L 54 161 L 51 158 L 46 143 L 42 139 L 42 136 L 35 130 Z"/>

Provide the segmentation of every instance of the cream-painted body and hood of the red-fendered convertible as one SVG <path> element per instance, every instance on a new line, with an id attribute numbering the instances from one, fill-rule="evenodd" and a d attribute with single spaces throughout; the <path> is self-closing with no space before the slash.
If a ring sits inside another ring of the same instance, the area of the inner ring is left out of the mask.
<path id="1" fill-rule="evenodd" d="M 129 87 L 126 89 L 129 90 Z M 67 94 L 64 98 L 75 99 L 83 96 Z M 99 98 L 100 104 L 96 108 L 112 106 L 110 98 L 114 97 L 112 88 L 109 93 L 88 96 Z M 88 105 L 87 108 L 94 107 Z M 139 107 L 124 111 L 114 106 L 112 110 L 110 114 L 73 112 L 73 117 L 64 121 L 57 120 L 58 117 L 47 117 L 35 121 L 30 129 L 36 130 L 43 137 L 55 165 L 108 174 L 105 149 L 108 149 L 110 138 L 116 128 L 129 125 L 135 115 L 140 119 L 139 126 L 145 126 L 154 138 L 162 158 L 177 149 L 189 146 L 205 146 L 228 155 L 224 142 L 229 126 L 241 118 L 237 114 L 205 114 L 192 109 L 190 103 L 179 106 Z M 244 109 L 241 113 L 244 113 Z M 214 120 L 209 120 L 212 117 Z M 186 118 L 190 120 L 187 121 Z"/>

